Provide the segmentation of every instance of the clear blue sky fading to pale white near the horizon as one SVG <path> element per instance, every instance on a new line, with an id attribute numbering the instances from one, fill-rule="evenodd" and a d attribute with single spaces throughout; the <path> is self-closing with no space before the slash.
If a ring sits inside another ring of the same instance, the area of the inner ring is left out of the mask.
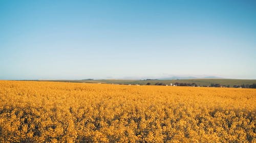
<path id="1" fill-rule="evenodd" d="M 256 79 L 256 1 L 0 1 L 0 79 Z"/>

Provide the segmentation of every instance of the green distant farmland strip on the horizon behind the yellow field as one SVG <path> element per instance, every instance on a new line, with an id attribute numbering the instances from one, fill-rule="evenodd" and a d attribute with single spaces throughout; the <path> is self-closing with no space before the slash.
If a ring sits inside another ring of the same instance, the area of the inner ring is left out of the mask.
<path id="1" fill-rule="evenodd" d="M 38 80 L 40 81 L 40 80 Z M 43 80 L 46 81 L 46 80 Z M 176 82 L 179 83 L 196 83 L 199 86 L 210 86 L 211 83 L 219 83 L 221 85 L 242 85 L 256 83 L 255 79 L 175 79 L 175 80 L 123 80 L 123 79 L 101 79 L 101 80 L 47 80 L 60 82 L 86 82 L 86 83 L 110 83 L 110 84 L 140 84 L 146 85 L 148 82 L 155 85 L 157 82 L 170 85 Z"/>

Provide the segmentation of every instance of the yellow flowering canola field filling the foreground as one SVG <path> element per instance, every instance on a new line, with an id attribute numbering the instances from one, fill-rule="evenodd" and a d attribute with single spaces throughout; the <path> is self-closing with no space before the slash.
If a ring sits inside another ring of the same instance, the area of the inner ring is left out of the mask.
<path id="1" fill-rule="evenodd" d="M 255 89 L 0 81 L 0 142 L 256 142 Z"/>

